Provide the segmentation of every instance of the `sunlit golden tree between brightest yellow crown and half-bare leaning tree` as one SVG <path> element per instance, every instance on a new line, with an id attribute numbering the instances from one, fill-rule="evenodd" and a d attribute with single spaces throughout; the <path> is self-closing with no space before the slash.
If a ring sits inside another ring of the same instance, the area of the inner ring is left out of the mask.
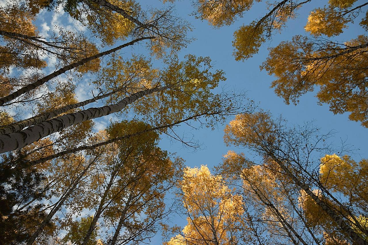
<path id="1" fill-rule="evenodd" d="M 298 187 L 277 166 L 266 161 L 257 165 L 243 153 L 229 151 L 217 170 L 243 193 L 248 227 L 263 227 L 253 229 L 245 244 L 320 244 L 300 208 Z"/>

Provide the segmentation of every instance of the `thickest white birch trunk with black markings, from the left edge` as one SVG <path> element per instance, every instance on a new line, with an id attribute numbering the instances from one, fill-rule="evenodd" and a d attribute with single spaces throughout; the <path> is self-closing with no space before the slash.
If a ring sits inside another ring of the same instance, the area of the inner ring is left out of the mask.
<path id="1" fill-rule="evenodd" d="M 139 99 L 140 97 L 149 95 L 153 92 L 163 91 L 170 87 L 171 86 L 164 86 L 162 88 L 147 89 L 134 93 L 130 97 L 126 97 L 117 104 L 98 108 L 89 108 L 87 110 L 78 111 L 76 113 L 66 114 L 61 117 L 53 118 L 51 120 L 28 127 L 20 132 L 0 135 L 0 153 L 8 152 L 11 150 L 22 148 L 26 145 L 30 145 L 31 143 L 38 141 L 43 137 L 46 137 L 55 132 L 59 132 L 64 128 L 70 127 L 71 125 L 118 112 L 128 104 L 131 104 L 135 100 Z"/>

